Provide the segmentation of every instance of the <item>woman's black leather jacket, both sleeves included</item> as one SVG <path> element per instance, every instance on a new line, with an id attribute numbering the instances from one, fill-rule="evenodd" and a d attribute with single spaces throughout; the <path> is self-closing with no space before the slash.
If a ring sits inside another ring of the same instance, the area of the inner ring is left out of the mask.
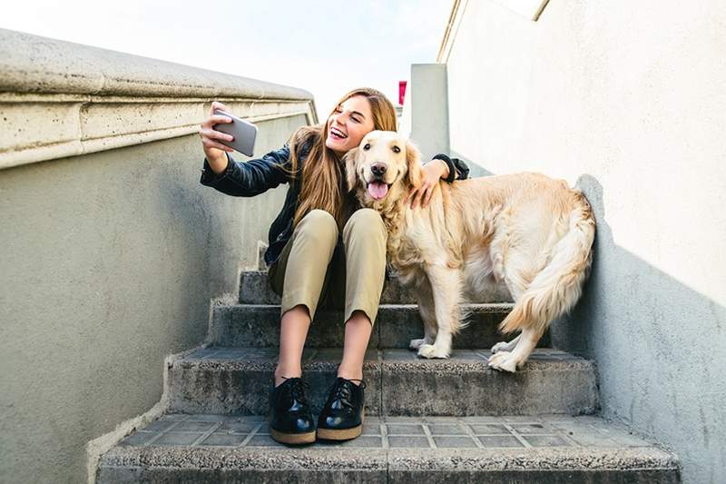
<path id="1" fill-rule="evenodd" d="M 308 157 L 309 148 L 302 146 L 299 153 L 299 170 L 302 163 Z M 449 176 L 447 182 L 455 179 L 464 180 L 468 176 L 469 168 L 466 163 L 456 159 L 449 158 L 445 154 L 437 154 L 434 158 L 444 160 L 449 167 Z M 285 197 L 285 204 L 282 211 L 270 225 L 268 234 L 270 246 L 265 252 L 265 262 L 268 265 L 276 262 L 280 257 L 280 252 L 285 244 L 292 236 L 292 220 L 295 216 L 295 210 L 298 207 L 298 198 L 300 194 L 301 183 L 298 179 L 291 180 L 289 169 L 291 163 L 289 161 L 289 145 L 285 145 L 280 150 L 272 151 L 265 154 L 261 158 L 250 160 L 248 162 L 235 162 L 231 156 L 227 155 L 227 170 L 219 175 L 211 171 L 209 162 L 204 159 L 204 168 L 201 173 L 200 183 L 205 186 L 227 193 L 228 195 L 238 197 L 251 197 L 267 192 L 270 188 L 275 188 L 280 183 L 289 183 L 288 194 Z M 290 183 L 292 182 L 292 183 Z M 352 196 L 352 194 L 350 195 Z M 357 202 L 356 202 L 357 203 Z"/>

